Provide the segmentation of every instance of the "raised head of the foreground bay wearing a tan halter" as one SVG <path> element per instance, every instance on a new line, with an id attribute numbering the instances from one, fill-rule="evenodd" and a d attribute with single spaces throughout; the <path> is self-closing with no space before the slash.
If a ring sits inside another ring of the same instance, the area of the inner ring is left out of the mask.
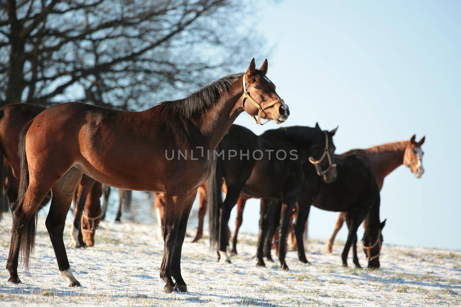
<path id="1" fill-rule="evenodd" d="M 261 118 L 267 119 L 267 122 L 272 119 L 280 124 L 290 115 L 288 105 L 278 96 L 275 85 L 266 77 L 267 66 L 266 59 L 257 70 L 253 58 L 247 72 L 243 75 L 242 107 L 259 125 L 266 123 L 261 124 Z"/>

